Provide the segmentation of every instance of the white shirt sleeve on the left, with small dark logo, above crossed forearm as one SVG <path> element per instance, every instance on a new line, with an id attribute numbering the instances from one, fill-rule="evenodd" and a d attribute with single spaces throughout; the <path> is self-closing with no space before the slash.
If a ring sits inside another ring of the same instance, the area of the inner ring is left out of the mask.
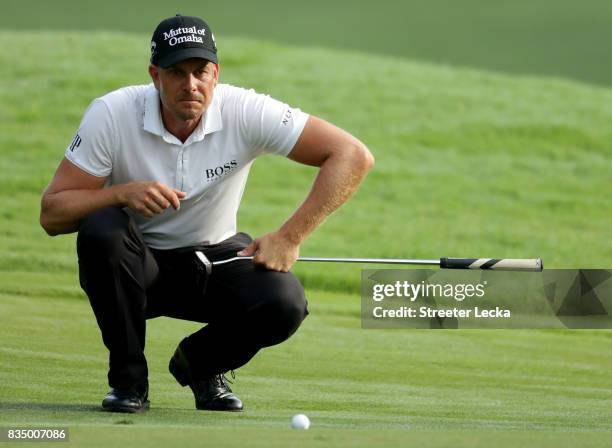
<path id="1" fill-rule="evenodd" d="M 110 111 L 100 99 L 90 105 L 64 156 L 73 164 L 97 177 L 112 172 L 113 122 Z"/>

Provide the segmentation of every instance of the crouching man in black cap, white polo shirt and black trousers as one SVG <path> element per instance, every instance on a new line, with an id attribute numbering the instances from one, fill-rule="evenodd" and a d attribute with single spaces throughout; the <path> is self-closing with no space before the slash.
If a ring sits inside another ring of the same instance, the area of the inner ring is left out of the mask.
<path id="1" fill-rule="evenodd" d="M 300 244 L 356 190 L 373 164 L 343 130 L 299 109 L 218 84 L 214 36 L 177 15 L 153 33 L 152 85 L 93 101 L 43 194 L 50 235 L 78 231 L 83 290 L 109 350 L 102 408 L 149 407 L 146 319 L 206 323 L 178 345 L 169 370 L 198 409 L 240 411 L 224 373 L 286 340 L 308 314 L 289 269 Z M 304 202 L 275 231 L 236 233 L 248 170 L 273 153 L 320 167 Z M 215 267 L 212 261 L 254 256 Z"/>

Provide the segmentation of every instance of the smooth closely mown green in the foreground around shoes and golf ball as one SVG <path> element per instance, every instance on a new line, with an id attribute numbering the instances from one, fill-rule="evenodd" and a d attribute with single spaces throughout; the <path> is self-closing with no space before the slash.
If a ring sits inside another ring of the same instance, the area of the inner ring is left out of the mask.
<path id="1" fill-rule="evenodd" d="M 199 438 L 254 442 L 248 446 L 612 440 L 608 333 L 366 331 L 354 297 L 310 291 L 312 315 L 302 329 L 238 373 L 234 389 L 247 412 L 193 410 L 166 366 L 177 341 L 197 327 L 162 318 L 148 326 L 152 410 L 125 416 L 98 411 L 106 354 L 85 300 L 0 297 L 0 425 L 68 426 L 73 442 L 88 446 L 146 439 L 161 447 L 171 438 L 178 446 Z M 312 420 L 306 435 L 289 429 L 297 412 Z"/>

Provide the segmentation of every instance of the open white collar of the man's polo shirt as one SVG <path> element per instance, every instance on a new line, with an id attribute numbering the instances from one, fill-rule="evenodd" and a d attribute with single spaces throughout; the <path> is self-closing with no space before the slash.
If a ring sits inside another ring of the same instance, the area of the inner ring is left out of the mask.
<path id="1" fill-rule="evenodd" d="M 143 107 L 143 129 L 151 134 L 160 136 L 167 143 L 179 145 L 183 144 L 174 135 L 170 134 L 164 127 L 161 117 L 159 92 L 153 84 L 149 84 L 149 89 L 145 95 Z M 204 139 L 206 134 L 212 134 L 213 132 L 217 132 L 222 129 L 223 120 L 221 118 L 221 105 L 219 95 L 217 95 L 215 92 L 205 115 L 202 117 L 189 138 L 185 141 L 185 144 L 199 142 Z"/>

